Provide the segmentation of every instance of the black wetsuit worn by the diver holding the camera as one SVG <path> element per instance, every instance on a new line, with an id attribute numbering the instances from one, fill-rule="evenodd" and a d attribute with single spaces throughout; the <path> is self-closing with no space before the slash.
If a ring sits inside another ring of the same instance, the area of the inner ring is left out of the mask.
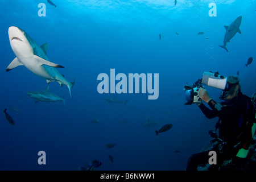
<path id="1" fill-rule="evenodd" d="M 230 101 L 222 102 L 222 108 L 217 110 L 215 108 L 216 102 L 210 100 L 208 105 L 211 109 L 205 106 L 203 103 L 199 106 L 201 111 L 209 119 L 218 117 L 221 119 L 219 128 L 219 138 L 222 139 L 225 144 L 222 146 L 222 151 L 218 149 L 220 143 L 209 151 L 216 151 L 217 154 L 217 164 L 212 164 L 209 170 L 217 170 L 221 166 L 222 162 L 227 159 L 232 159 L 236 156 L 238 150 L 241 147 L 234 148 L 234 146 L 240 142 L 241 138 L 237 139 L 238 135 L 242 132 L 242 127 L 238 126 L 238 121 L 243 120 L 243 114 L 248 108 L 248 98 L 243 95 L 242 92 L 238 91 L 237 97 Z M 187 163 L 187 171 L 197 170 L 199 164 L 208 163 L 210 158 L 209 151 L 200 152 L 198 154 L 193 154 Z"/>

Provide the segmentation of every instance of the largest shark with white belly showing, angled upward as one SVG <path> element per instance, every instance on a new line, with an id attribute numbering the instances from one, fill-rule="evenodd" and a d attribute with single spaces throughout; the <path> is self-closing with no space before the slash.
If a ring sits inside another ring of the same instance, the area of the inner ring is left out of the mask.
<path id="1" fill-rule="evenodd" d="M 18 27 L 10 27 L 8 33 L 11 48 L 16 57 L 6 68 L 6 72 L 19 65 L 24 65 L 32 73 L 35 73 L 35 75 L 45 78 L 47 84 L 57 81 L 61 86 L 63 84 L 67 85 L 71 96 L 71 88 L 75 84 L 75 81 L 67 81 L 56 69 L 64 67 L 49 61 L 46 55 L 49 44 L 45 43 L 42 46 L 38 46 L 25 31 Z"/>

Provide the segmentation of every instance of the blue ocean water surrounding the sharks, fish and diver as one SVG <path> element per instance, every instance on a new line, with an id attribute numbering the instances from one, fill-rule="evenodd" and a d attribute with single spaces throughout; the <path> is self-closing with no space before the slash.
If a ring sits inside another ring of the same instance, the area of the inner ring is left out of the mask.
<path id="1" fill-rule="evenodd" d="M 242 92 L 251 96 L 256 90 L 255 63 L 245 66 L 249 57 L 256 57 L 254 0 L 52 2 L 56 7 L 46 0 L 0 0 L 0 107 L 15 121 L 10 125 L 5 113 L 0 115 L 0 170 L 76 170 L 94 159 L 102 162 L 99 171 L 184 170 L 189 156 L 207 146 L 208 131 L 217 122 L 196 105 L 184 105 L 184 85 L 205 71 L 225 76 L 240 71 Z M 46 16 L 38 15 L 39 3 L 46 4 Z M 216 3 L 217 16 L 209 16 L 209 3 Z M 242 34 L 230 40 L 226 52 L 218 47 L 224 25 L 238 16 Z M 47 83 L 27 68 L 5 71 L 15 58 L 10 26 L 22 28 L 39 45 L 49 43 L 49 59 L 65 67 L 57 69 L 67 80 L 76 81 L 72 98 L 67 86 L 49 84 L 65 105 L 35 103 L 26 93 L 44 90 Z M 198 35 L 200 31 L 204 34 Z M 97 76 L 110 75 L 112 68 L 116 74 L 159 73 L 158 99 L 148 100 L 142 93 L 99 94 Z M 220 101 L 220 89 L 206 88 Z M 129 101 L 108 103 L 112 97 Z M 157 125 L 143 128 L 144 117 Z M 93 123 L 94 118 L 101 123 Z M 156 136 L 155 130 L 167 123 L 172 129 Z M 117 145 L 107 148 L 108 143 Z M 38 164 L 39 151 L 46 152 L 46 165 Z"/>

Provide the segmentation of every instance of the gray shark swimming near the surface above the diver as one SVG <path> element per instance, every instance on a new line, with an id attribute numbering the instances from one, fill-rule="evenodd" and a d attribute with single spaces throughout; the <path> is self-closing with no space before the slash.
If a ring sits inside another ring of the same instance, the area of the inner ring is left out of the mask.
<path id="1" fill-rule="evenodd" d="M 220 47 L 224 48 L 227 52 L 229 51 L 226 48 L 226 43 L 230 42 L 230 40 L 234 37 L 234 35 L 237 34 L 237 32 L 239 34 L 242 34 L 241 30 L 239 29 L 241 22 L 242 22 L 242 16 L 238 16 L 238 18 L 234 20 L 234 22 L 232 22 L 230 26 L 224 26 L 226 29 L 226 34 L 224 36 L 224 45 Z"/>

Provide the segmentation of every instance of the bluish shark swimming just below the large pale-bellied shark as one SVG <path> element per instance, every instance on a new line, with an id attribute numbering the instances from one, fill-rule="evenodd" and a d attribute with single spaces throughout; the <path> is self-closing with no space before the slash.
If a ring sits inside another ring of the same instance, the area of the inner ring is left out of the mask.
<path id="1" fill-rule="evenodd" d="M 49 85 L 45 90 L 37 90 L 32 92 L 27 92 L 28 96 L 35 98 L 35 102 L 43 101 L 43 102 L 57 102 L 63 101 L 65 104 L 64 98 L 61 98 L 51 92 L 49 92 Z"/>

